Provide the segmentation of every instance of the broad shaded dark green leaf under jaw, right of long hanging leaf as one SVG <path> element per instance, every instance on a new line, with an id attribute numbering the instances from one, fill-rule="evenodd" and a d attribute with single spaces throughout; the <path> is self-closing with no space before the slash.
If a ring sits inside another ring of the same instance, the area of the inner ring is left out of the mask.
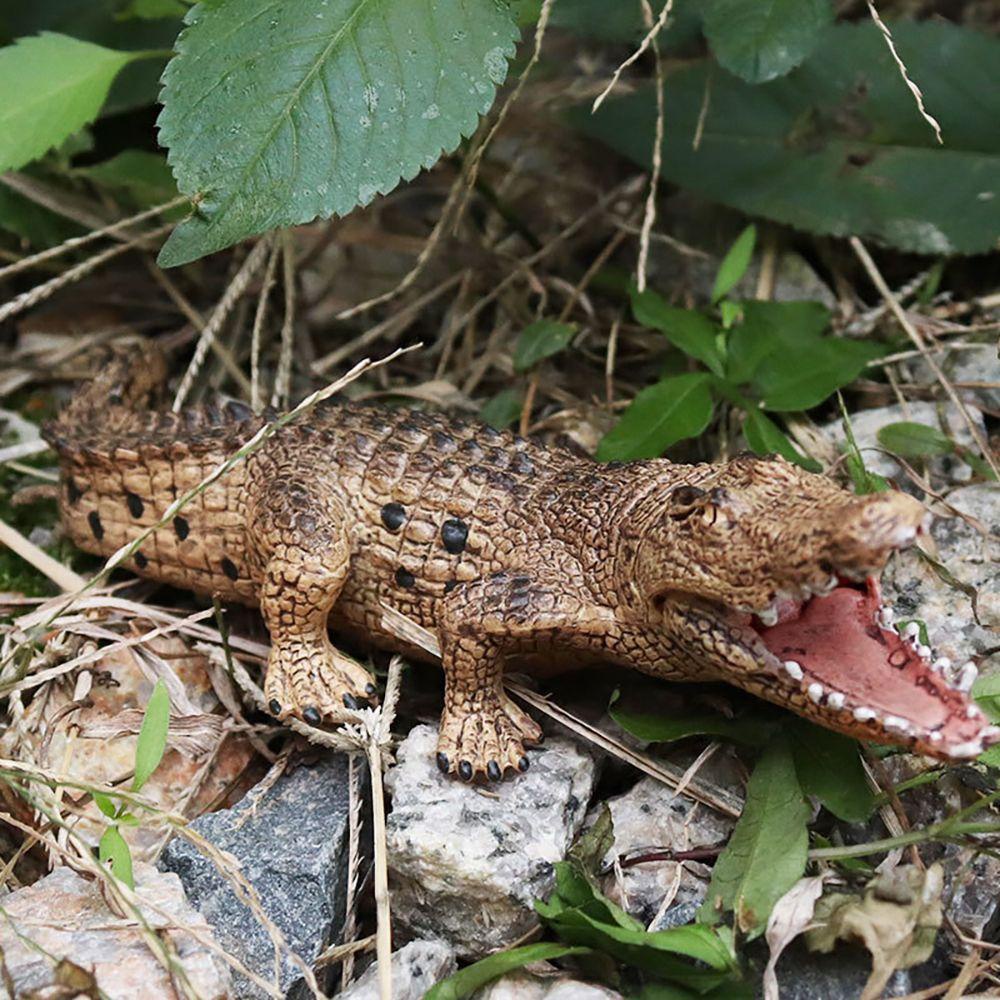
<path id="1" fill-rule="evenodd" d="M 855 740 L 805 719 L 786 727 L 795 758 L 795 773 L 806 795 L 814 795 L 838 819 L 863 823 L 875 810 Z"/>

